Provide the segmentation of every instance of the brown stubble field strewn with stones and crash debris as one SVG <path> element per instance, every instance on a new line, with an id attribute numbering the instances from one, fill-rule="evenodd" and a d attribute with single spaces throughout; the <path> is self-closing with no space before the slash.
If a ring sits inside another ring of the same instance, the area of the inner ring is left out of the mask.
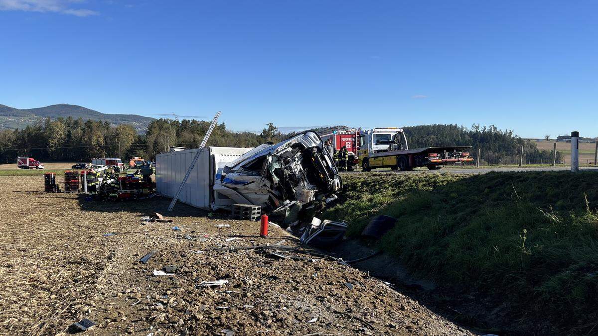
<path id="1" fill-rule="evenodd" d="M 173 223 L 145 223 L 169 200 L 102 203 L 41 190 L 42 176 L 0 177 L 0 334 L 62 334 L 83 317 L 97 323 L 90 335 L 471 334 L 327 258 L 209 251 L 297 246 L 279 228 L 263 239 L 256 222 L 183 204 Z M 158 252 L 139 262 L 150 251 Z M 174 275 L 152 275 L 166 265 L 178 267 Z M 228 283 L 198 286 L 212 280 Z"/>

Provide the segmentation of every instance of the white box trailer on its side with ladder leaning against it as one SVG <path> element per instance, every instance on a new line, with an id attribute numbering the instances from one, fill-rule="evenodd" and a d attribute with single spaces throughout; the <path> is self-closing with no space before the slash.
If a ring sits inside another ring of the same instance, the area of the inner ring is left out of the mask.
<path id="1" fill-rule="evenodd" d="M 179 201 L 202 209 L 212 209 L 214 205 L 212 204 L 214 198 L 213 178 L 216 175 L 216 169 L 250 150 L 251 148 L 203 148 L 195 167 L 181 190 Z M 175 196 L 197 151 L 198 149 L 186 149 L 156 155 L 155 174 L 156 192 L 158 194 L 166 197 Z M 232 203 L 219 199 L 216 201 L 215 207 L 228 204 Z"/>

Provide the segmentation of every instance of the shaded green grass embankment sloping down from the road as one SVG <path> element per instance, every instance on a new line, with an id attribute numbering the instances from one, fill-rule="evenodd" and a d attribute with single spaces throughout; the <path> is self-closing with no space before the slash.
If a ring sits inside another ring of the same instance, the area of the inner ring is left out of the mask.
<path id="1" fill-rule="evenodd" d="M 322 218 L 350 222 L 349 236 L 373 215 L 394 216 L 379 247 L 411 270 L 504 297 L 520 319 L 596 324 L 598 173 L 359 173 L 343 183 L 343 202 Z"/>

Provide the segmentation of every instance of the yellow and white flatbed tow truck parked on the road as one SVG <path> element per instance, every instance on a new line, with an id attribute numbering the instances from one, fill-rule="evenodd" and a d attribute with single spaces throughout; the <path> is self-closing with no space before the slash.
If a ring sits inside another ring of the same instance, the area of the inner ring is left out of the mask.
<path id="1" fill-rule="evenodd" d="M 362 130 L 359 134 L 359 165 L 365 172 L 390 167 L 409 171 L 415 167 L 441 169 L 446 163 L 471 162 L 471 146 L 439 146 L 409 149 L 403 129 L 397 127 Z"/>

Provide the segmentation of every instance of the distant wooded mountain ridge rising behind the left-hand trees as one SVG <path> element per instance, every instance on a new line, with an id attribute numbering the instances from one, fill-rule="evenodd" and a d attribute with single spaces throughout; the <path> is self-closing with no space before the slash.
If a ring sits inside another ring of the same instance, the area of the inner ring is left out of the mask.
<path id="1" fill-rule="evenodd" d="M 44 118 L 56 119 L 58 117 L 83 120 L 108 121 L 111 124 L 132 124 L 138 132 L 147 129 L 154 118 L 143 117 L 136 114 L 105 114 L 84 108 L 83 106 L 70 104 L 56 104 L 42 108 L 17 109 L 6 105 L 0 105 L 0 129 L 24 128 L 28 124 Z"/>

